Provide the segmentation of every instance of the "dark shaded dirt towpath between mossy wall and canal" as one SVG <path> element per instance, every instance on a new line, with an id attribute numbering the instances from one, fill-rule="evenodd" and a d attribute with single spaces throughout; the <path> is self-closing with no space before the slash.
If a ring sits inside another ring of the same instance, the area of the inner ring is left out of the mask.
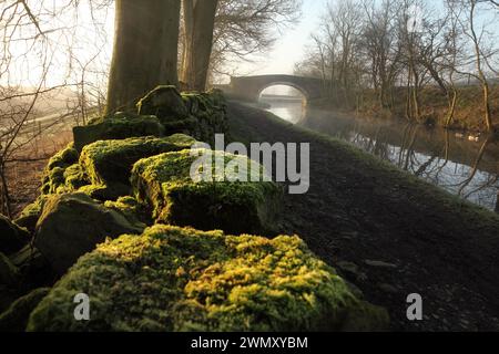
<path id="1" fill-rule="evenodd" d="M 310 143 L 312 186 L 286 196 L 283 232 L 387 308 L 393 330 L 499 331 L 499 216 L 265 112 L 231 103 L 228 114 L 234 139 Z M 410 293 L 421 322 L 407 320 Z"/>

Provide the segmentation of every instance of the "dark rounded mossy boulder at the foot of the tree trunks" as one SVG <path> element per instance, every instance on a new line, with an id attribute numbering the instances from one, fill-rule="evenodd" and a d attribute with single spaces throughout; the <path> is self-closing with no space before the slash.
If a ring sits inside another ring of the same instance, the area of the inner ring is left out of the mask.
<path id="1" fill-rule="evenodd" d="M 175 86 L 157 86 L 136 104 L 139 114 L 154 115 L 161 123 L 177 122 L 189 116 Z"/>

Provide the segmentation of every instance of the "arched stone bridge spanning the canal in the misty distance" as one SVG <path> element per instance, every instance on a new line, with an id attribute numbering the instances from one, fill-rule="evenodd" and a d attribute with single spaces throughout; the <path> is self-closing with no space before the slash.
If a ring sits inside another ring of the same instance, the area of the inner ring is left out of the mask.
<path id="1" fill-rule="evenodd" d="M 320 79 L 294 75 L 233 76 L 228 85 L 220 86 L 220 88 L 235 98 L 257 102 L 261 93 L 274 85 L 292 86 L 302 92 L 307 101 L 324 96 L 324 82 Z"/>

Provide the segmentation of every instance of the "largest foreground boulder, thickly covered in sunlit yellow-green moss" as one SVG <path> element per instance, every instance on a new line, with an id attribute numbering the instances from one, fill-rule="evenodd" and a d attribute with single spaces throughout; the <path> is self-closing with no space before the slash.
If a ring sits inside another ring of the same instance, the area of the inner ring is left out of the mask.
<path id="1" fill-rule="evenodd" d="M 81 292 L 90 321 L 74 321 Z M 82 257 L 31 313 L 28 331 L 375 331 L 387 322 L 296 236 L 154 226 Z"/>

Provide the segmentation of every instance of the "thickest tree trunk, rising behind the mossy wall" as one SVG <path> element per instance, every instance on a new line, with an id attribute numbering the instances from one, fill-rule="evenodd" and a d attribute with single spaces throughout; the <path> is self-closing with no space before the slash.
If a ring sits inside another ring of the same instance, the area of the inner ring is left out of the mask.
<path id="1" fill-rule="evenodd" d="M 161 84 L 177 85 L 181 0 L 116 0 L 106 113 L 135 111 Z"/>

